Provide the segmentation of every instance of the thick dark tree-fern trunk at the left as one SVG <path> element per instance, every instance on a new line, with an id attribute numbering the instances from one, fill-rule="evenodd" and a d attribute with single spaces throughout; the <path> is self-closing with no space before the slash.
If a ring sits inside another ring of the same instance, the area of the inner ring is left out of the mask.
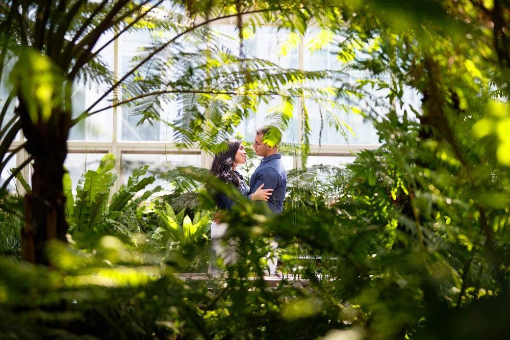
<path id="1" fill-rule="evenodd" d="M 32 122 L 23 98 L 16 109 L 27 139 L 27 151 L 34 157 L 32 192 L 25 195 L 25 225 L 21 230 L 24 260 L 48 264 L 45 248 L 50 240 L 66 242 L 64 160 L 71 115 L 53 111 L 46 122 Z M 30 100 L 30 99 L 29 99 Z M 58 109 L 55 109 L 58 110 Z"/>

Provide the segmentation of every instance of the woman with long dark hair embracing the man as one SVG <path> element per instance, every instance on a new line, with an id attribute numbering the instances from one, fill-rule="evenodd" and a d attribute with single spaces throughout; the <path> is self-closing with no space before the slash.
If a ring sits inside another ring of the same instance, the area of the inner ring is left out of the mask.
<path id="1" fill-rule="evenodd" d="M 236 170 L 237 166 L 246 163 L 246 151 L 241 141 L 238 139 L 229 139 L 226 151 L 218 153 L 213 160 L 211 173 L 225 183 L 232 183 L 244 196 L 248 196 L 249 187 L 243 176 Z M 267 201 L 271 196 L 273 189 L 262 189 L 261 185 L 256 192 L 251 195 L 251 200 Z M 223 193 L 218 193 L 215 197 L 216 204 L 220 210 L 231 211 L 235 201 Z M 211 224 L 211 248 L 215 256 L 220 256 L 223 263 L 231 264 L 236 260 L 235 241 L 228 240 L 228 245 L 221 244 L 221 238 L 225 234 L 228 225 L 213 220 Z M 218 269 L 214 266 L 215 258 L 211 258 L 209 272 L 217 273 Z"/>

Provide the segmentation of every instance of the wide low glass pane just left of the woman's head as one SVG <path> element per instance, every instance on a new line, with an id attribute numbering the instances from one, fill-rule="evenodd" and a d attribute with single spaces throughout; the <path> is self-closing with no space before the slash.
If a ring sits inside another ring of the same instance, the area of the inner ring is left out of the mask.
<path id="1" fill-rule="evenodd" d="M 161 186 L 163 189 L 171 191 L 169 182 L 158 178 L 158 174 L 166 172 L 176 167 L 194 166 L 200 167 L 200 154 L 141 154 L 141 153 L 122 153 L 122 168 L 124 183 L 127 183 L 133 170 L 143 165 L 149 165 L 149 173 L 156 175 L 156 180 L 145 190 Z"/>

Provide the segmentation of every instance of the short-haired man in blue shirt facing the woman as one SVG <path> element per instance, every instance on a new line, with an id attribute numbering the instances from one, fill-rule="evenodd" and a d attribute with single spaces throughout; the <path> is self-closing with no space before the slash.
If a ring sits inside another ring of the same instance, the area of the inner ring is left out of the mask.
<path id="1" fill-rule="evenodd" d="M 274 213 L 283 211 L 285 191 L 287 189 L 287 172 L 282 163 L 282 155 L 278 153 L 278 144 L 282 140 L 282 134 L 277 127 L 263 126 L 257 129 L 253 148 L 258 156 L 264 157 L 259 167 L 253 172 L 250 178 L 250 194 L 263 186 L 264 189 L 273 189 L 267 204 Z M 274 250 L 278 244 L 271 242 Z M 275 256 L 268 258 L 269 275 L 276 274 L 277 259 Z"/>

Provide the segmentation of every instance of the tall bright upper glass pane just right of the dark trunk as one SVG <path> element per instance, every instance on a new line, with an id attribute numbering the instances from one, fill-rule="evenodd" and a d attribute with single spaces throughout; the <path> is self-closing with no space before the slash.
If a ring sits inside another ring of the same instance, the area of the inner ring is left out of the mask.
<path id="1" fill-rule="evenodd" d="M 107 32 L 97 42 L 100 48 L 113 38 L 113 32 Z M 114 48 L 113 42 L 101 50 L 99 57 L 109 71 L 113 71 Z M 97 99 L 99 99 L 113 85 L 111 79 L 105 79 L 99 83 L 83 79 L 73 84 L 72 92 L 72 117 L 78 117 L 87 110 Z M 113 91 L 101 99 L 90 112 L 107 108 L 112 104 Z M 113 109 L 98 112 L 85 120 L 74 125 L 69 133 L 69 140 L 74 141 L 111 141 L 113 136 Z"/>

